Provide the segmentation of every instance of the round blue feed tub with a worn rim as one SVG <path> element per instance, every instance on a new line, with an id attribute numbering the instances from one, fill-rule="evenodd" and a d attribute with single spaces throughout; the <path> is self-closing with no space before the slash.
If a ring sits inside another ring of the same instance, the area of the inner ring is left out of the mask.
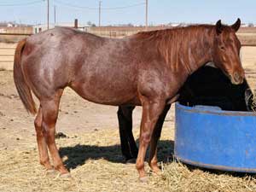
<path id="1" fill-rule="evenodd" d="M 174 154 L 184 163 L 256 173 L 256 113 L 176 103 Z"/>

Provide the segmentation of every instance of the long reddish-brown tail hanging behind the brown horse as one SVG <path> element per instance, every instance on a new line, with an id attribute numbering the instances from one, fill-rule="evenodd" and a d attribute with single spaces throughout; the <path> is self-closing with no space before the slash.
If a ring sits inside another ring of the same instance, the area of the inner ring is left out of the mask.
<path id="1" fill-rule="evenodd" d="M 26 111 L 28 113 L 36 114 L 37 108 L 32 98 L 31 88 L 26 83 L 26 80 L 20 65 L 22 50 L 24 49 L 25 44 L 26 44 L 26 38 L 21 40 L 15 49 L 15 63 L 14 63 L 15 86 L 16 86 L 16 89 L 18 90 L 22 103 L 26 108 Z"/>

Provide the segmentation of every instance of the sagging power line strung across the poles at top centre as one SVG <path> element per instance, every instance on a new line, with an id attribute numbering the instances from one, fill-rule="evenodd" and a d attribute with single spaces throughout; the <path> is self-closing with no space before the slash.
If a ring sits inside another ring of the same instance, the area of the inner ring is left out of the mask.
<path id="1" fill-rule="evenodd" d="M 74 5 L 74 4 L 71 4 L 71 3 L 64 3 L 64 2 L 61 2 L 59 0 L 55 0 L 55 3 L 61 4 L 63 6 L 70 7 L 70 8 L 76 8 L 76 9 L 93 9 L 93 10 L 99 9 L 98 7 L 77 6 L 77 5 Z M 143 2 L 143 3 L 136 3 L 136 4 L 131 4 L 131 5 L 127 5 L 127 6 L 120 6 L 120 7 L 105 7 L 105 8 L 102 7 L 101 9 L 105 9 L 105 10 L 127 9 L 127 8 L 141 6 L 141 5 L 144 5 L 144 4 L 145 3 Z"/>

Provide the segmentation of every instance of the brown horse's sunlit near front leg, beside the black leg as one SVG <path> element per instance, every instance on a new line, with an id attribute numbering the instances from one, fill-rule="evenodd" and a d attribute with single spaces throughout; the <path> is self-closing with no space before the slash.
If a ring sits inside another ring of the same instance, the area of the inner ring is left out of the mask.
<path id="1" fill-rule="evenodd" d="M 141 122 L 139 151 L 137 155 L 136 167 L 139 173 L 140 180 L 143 182 L 146 178 L 144 170 L 145 154 L 148 148 L 148 143 L 151 141 L 154 127 L 165 108 L 166 100 L 162 98 L 149 99 L 146 96 L 141 96 L 143 105 L 143 117 Z"/>

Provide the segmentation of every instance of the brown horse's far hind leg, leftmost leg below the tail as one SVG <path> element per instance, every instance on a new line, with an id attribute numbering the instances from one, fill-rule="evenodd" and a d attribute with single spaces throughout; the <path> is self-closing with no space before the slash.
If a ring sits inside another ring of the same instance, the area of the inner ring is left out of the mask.
<path id="1" fill-rule="evenodd" d="M 40 164 L 43 165 L 46 168 L 46 170 L 51 170 L 53 167 L 49 164 L 49 155 L 47 151 L 47 144 L 45 143 L 45 139 L 44 139 L 42 120 L 43 120 L 43 113 L 42 113 L 42 108 L 40 106 L 40 108 L 38 109 L 37 117 L 34 122 L 35 129 L 37 132 L 39 159 L 40 159 Z"/>

